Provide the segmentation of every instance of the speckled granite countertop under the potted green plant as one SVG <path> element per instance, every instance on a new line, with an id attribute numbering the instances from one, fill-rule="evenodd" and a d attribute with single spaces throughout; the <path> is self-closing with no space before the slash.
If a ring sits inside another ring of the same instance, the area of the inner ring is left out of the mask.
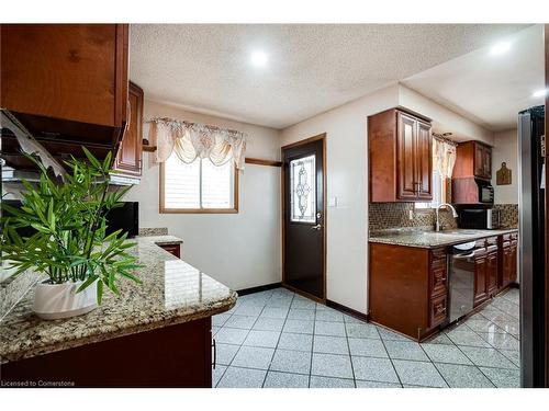
<path id="1" fill-rule="evenodd" d="M 137 246 L 128 252 L 145 265 L 136 271 L 142 285 L 119 278 L 121 297 L 105 290 L 96 310 L 53 321 L 32 312 L 34 292 L 29 292 L 0 321 L 0 363 L 192 321 L 235 305 L 235 292 L 158 247 L 181 243 L 181 239 L 154 236 L 134 240 Z"/>

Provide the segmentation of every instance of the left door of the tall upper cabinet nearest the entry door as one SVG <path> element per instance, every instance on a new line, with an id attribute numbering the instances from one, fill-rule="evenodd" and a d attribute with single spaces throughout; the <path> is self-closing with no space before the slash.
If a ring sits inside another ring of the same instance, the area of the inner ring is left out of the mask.
<path id="1" fill-rule="evenodd" d="M 397 197 L 399 199 L 416 199 L 416 140 L 417 121 L 403 113 L 397 113 Z"/>

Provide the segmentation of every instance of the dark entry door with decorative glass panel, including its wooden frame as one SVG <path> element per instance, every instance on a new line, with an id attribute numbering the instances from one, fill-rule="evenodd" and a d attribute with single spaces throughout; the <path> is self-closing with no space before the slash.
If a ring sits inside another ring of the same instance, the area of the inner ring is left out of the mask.
<path id="1" fill-rule="evenodd" d="M 326 299 L 325 135 L 282 147 L 282 283 Z"/>

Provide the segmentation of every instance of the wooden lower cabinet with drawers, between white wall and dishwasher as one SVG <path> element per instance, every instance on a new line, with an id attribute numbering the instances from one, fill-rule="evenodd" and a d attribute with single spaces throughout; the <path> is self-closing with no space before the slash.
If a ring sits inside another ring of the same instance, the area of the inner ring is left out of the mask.
<path id="1" fill-rule="evenodd" d="M 370 320 L 421 341 L 448 318 L 445 249 L 370 243 Z"/>

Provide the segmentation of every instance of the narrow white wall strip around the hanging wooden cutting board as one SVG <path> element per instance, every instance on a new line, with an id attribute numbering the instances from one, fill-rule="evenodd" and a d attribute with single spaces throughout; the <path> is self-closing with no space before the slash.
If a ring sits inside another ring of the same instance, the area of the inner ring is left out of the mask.
<path id="1" fill-rule="evenodd" d="M 492 148 L 492 185 L 494 186 L 495 204 L 518 204 L 518 141 L 517 130 L 495 133 L 494 147 Z M 501 169 L 502 162 L 507 163 L 511 170 L 509 185 L 496 185 L 496 171 Z"/>

